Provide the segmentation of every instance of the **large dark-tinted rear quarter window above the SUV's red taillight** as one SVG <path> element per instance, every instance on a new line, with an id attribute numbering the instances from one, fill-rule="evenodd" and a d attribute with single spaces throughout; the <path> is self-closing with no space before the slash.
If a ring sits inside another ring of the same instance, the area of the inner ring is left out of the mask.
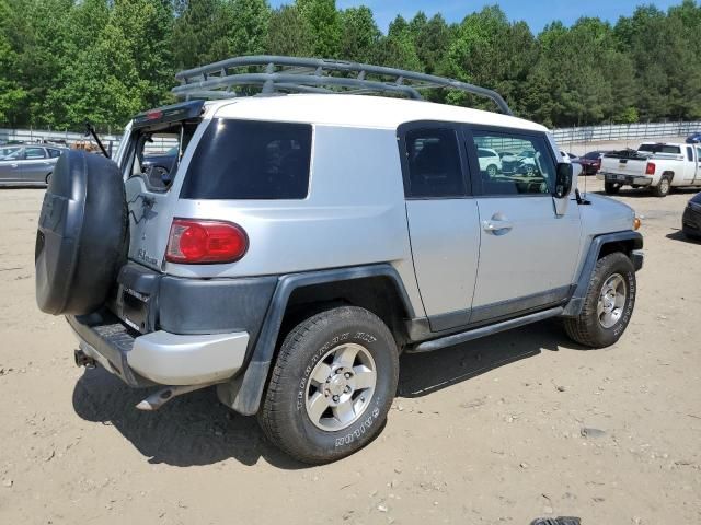
<path id="1" fill-rule="evenodd" d="M 218 119 L 195 150 L 184 199 L 303 199 L 309 191 L 308 124 Z"/>

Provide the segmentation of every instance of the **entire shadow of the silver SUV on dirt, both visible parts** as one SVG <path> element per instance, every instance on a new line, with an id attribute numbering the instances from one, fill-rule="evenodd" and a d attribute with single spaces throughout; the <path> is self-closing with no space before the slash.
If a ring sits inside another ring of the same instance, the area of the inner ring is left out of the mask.
<path id="1" fill-rule="evenodd" d="M 436 352 L 405 354 L 398 395 L 425 396 L 542 350 L 558 351 L 564 341 L 583 349 L 550 319 Z M 154 412 L 137 410 L 150 393 L 129 388 L 103 369 L 89 369 L 73 389 L 73 408 L 85 421 L 117 429 L 152 464 L 187 467 L 234 458 L 252 466 L 264 458 L 281 469 L 308 467 L 269 444 L 254 417 L 221 405 L 214 388 L 177 397 Z"/>

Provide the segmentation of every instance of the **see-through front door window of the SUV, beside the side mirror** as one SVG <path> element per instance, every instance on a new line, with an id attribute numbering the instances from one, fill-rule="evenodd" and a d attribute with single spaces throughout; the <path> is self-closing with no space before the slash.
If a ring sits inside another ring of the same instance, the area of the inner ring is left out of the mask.
<path id="1" fill-rule="evenodd" d="M 548 195 L 555 182 L 555 163 L 540 136 L 508 131 L 472 132 L 480 163 L 483 195 Z M 483 152 L 493 152 L 486 156 Z"/>

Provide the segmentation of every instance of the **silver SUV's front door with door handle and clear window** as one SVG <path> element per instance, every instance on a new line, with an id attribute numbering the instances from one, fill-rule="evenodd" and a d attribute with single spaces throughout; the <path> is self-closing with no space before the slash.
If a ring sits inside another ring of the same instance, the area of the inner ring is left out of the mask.
<path id="1" fill-rule="evenodd" d="M 579 210 L 570 202 L 555 212 L 555 152 L 544 133 L 473 128 L 478 148 L 519 152 L 508 173 L 473 175 L 480 215 L 480 262 L 470 323 L 526 314 L 563 302 L 579 256 Z M 518 160 L 520 159 L 520 160 Z M 479 194 L 479 195 L 478 195 Z"/>

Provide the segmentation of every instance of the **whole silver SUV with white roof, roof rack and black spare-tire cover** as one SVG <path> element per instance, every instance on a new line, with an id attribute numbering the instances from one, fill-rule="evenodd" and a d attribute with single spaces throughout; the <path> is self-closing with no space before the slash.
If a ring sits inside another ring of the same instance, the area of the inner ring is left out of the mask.
<path id="1" fill-rule="evenodd" d="M 284 57 L 179 78 L 188 100 L 138 115 L 114 160 L 61 156 L 36 241 L 39 307 L 67 316 L 78 364 L 160 386 L 138 408 L 216 385 L 280 448 L 324 463 L 377 435 L 402 352 L 548 317 L 599 348 L 628 326 L 633 211 L 582 198 L 548 130 L 496 93 Z M 263 93 L 221 91 L 241 84 Z M 436 86 L 502 113 L 357 95 Z M 174 148 L 156 174 L 154 142 Z M 530 151 L 535 170 L 481 150 Z"/>

